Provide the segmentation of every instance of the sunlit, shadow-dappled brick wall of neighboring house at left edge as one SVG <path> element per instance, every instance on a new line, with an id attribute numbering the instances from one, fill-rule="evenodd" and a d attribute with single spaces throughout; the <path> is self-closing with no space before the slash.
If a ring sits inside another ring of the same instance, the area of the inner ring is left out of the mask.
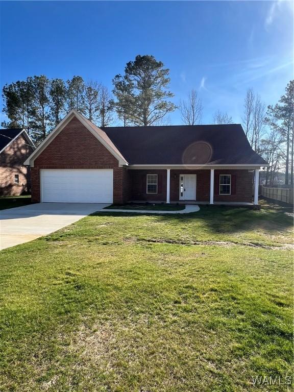
<path id="1" fill-rule="evenodd" d="M 32 152 L 27 139 L 20 135 L 0 154 L 1 195 L 18 196 L 30 189 L 30 170 L 23 166 L 23 162 Z M 15 174 L 19 176 L 19 184 L 14 184 Z"/>

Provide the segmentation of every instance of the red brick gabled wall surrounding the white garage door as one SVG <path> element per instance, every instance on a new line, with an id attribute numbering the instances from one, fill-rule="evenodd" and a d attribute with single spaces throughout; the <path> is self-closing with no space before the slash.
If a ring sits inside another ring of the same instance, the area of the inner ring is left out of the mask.
<path id="1" fill-rule="evenodd" d="M 40 202 L 40 169 L 108 169 L 113 168 L 113 202 L 124 203 L 126 169 L 84 127 L 73 118 L 45 150 L 32 167 L 32 201 Z"/>

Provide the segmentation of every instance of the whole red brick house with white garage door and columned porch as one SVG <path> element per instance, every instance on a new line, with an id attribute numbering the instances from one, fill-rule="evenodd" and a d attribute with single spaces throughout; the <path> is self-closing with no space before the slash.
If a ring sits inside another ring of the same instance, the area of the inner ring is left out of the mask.
<path id="1" fill-rule="evenodd" d="M 258 204 L 257 155 L 238 124 L 98 128 L 71 110 L 25 164 L 34 202 Z M 254 176 L 255 173 L 255 176 Z"/>

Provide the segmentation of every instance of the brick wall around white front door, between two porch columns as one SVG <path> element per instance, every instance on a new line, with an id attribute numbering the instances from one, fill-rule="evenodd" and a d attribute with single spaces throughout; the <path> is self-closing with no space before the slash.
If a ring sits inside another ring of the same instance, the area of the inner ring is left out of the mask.
<path id="1" fill-rule="evenodd" d="M 180 175 L 195 174 L 196 177 L 196 201 L 209 202 L 210 194 L 210 170 L 170 170 L 170 201 L 179 201 Z"/>

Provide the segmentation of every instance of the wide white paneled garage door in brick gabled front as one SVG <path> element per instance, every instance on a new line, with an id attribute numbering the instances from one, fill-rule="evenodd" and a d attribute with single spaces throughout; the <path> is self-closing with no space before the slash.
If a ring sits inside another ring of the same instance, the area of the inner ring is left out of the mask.
<path id="1" fill-rule="evenodd" d="M 112 169 L 43 169 L 42 202 L 112 203 Z"/>

